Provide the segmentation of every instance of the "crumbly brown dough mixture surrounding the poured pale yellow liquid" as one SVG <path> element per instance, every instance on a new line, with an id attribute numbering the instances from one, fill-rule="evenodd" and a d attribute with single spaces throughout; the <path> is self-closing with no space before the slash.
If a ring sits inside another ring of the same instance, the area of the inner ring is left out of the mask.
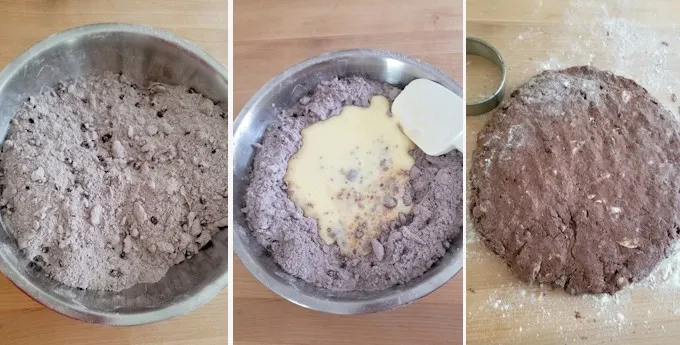
<path id="1" fill-rule="evenodd" d="M 422 275 L 446 252 L 463 226 L 463 157 L 413 151 L 415 164 L 404 201 L 411 214 L 384 224 L 373 252 L 340 254 L 321 241 L 316 219 L 288 198 L 288 160 L 302 144 L 300 130 L 338 115 L 345 105 L 366 107 L 374 95 L 393 100 L 400 90 L 359 77 L 324 82 L 269 125 L 255 155 L 243 211 L 255 238 L 290 274 L 332 290 L 382 290 Z M 351 138 L 348 138 L 351 140 Z"/>

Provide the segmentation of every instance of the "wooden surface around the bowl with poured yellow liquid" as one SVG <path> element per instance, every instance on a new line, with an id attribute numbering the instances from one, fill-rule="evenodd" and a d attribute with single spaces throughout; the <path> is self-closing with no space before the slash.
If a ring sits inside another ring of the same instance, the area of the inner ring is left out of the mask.
<path id="1" fill-rule="evenodd" d="M 234 1 L 234 115 L 264 83 L 321 53 L 393 50 L 463 77 L 462 1 Z M 462 275 L 394 311 L 327 315 L 272 293 L 234 261 L 234 343 L 459 344 Z"/>

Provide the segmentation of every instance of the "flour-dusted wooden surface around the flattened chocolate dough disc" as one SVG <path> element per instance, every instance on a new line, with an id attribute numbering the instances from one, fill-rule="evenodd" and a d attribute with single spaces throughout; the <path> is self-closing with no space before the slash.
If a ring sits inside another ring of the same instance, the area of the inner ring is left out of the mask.
<path id="1" fill-rule="evenodd" d="M 660 0 L 468 0 L 467 35 L 501 52 L 508 95 L 543 69 L 592 62 L 638 80 L 677 114 L 678 10 L 677 2 Z M 468 66 L 468 86 L 485 73 Z M 488 118 L 467 119 L 468 166 Z M 471 228 L 468 221 L 468 237 Z M 584 297 L 527 286 L 482 243 L 468 241 L 468 344 L 677 344 L 678 300 L 680 286 Z"/>

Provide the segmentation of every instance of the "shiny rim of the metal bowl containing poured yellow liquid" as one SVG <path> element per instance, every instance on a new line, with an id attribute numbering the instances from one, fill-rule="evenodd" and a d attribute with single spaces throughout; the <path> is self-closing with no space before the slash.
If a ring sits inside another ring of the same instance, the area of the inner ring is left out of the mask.
<path id="1" fill-rule="evenodd" d="M 239 127 L 241 125 L 241 122 L 245 118 L 246 114 L 248 114 L 253 106 L 259 102 L 259 100 L 266 95 L 268 92 L 270 92 L 272 89 L 277 87 L 279 84 L 284 82 L 287 78 L 289 78 L 291 75 L 294 75 L 296 73 L 299 73 L 300 71 L 303 71 L 311 66 L 321 64 L 321 63 L 326 63 L 329 61 L 333 61 L 339 58 L 346 58 L 346 57 L 357 57 L 357 56 L 368 56 L 372 58 L 378 58 L 378 59 L 393 59 L 397 60 L 406 64 L 414 65 L 418 68 L 424 69 L 426 71 L 432 72 L 438 77 L 441 78 L 443 83 L 449 89 L 452 89 L 456 94 L 462 97 L 462 88 L 458 83 L 456 83 L 453 78 L 448 76 L 446 73 L 441 71 L 440 69 L 427 64 L 421 60 L 409 57 L 407 55 L 401 54 L 401 53 L 395 53 L 395 52 L 390 52 L 390 51 L 385 51 L 385 50 L 379 50 L 379 49 L 349 49 L 349 50 L 339 50 L 339 51 L 334 51 L 334 52 L 329 52 L 329 53 L 324 53 L 316 57 L 309 58 L 307 60 L 303 60 L 282 73 L 276 75 L 273 77 L 271 80 L 269 80 L 264 86 L 262 86 L 246 103 L 246 105 L 243 107 L 243 109 L 239 112 L 238 117 L 234 120 L 234 127 L 233 127 L 233 137 L 232 140 L 236 139 L 236 134 L 239 131 Z M 232 141 L 232 148 L 235 147 L 235 141 Z M 235 154 L 235 153 L 234 153 Z M 235 158 L 235 157 L 234 157 Z M 233 212 L 240 212 L 239 210 L 235 209 L 236 205 L 232 206 Z M 237 227 L 238 225 L 234 224 L 234 227 Z M 360 314 L 360 313 L 375 313 L 375 312 L 382 312 L 386 310 L 391 310 L 399 306 L 404 306 L 408 305 L 410 303 L 413 303 L 430 293 L 434 292 L 441 286 L 443 286 L 446 282 L 451 280 L 458 272 L 461 271 L 463 267 L 463 255 L 461 253 L 454 254 L 454 258 L 451 260 L 451 262 L 442 268 L 440 272 L 437 274 L 431 276 L 428 278 L 428 280 L 423 281 L 421 284 L 417 286 L 412 286 L 406 291 L 399 291 L 395 294 L 390 294 L 387 296 L 381 296 L 377 297 L 374 299 L 367 299 L 367 300 L 352 300 L 352 301 L 334 301 L 322 297 L 317 297 L 317 296 L 312 296 L 308 295 L 299 289 L 296 289 L 295 287 L 291 286 L 290 284 L 280 284 L 278 281 L 272 280 L 268 273 L 265 272 L 258 264 L 255 263 L 255 260 L 253 260 L 251 254 L 249 253 L 249 250 L 244 246 L 244 244 L 241 241 L 240 235 L 237 233 L 237 231 L 242 231 L 246 234 L 246 236 L 250 236 L 247 232 L 249 229 L 243 229 L 242 227 L 238 226 L 238 229 L 234 229 L 233 232 L 233 246 L 234 246 L 234 254 L 236 254 L 241 262 L 246 266 L 248 271 L 257 278 L 262 284 L 264 284 L 267 288 L 272 290 L 274 293 L 277 295 L 283 297 L 284 299 L 288 300 L 289 302 L 292 302 L 296 305 L 299 305 L 304 308 L 316 310 L 316 311 L 321 311 L 321 312 L 327 312 L 327 313 L 332 313 L 332 314 L 343 314 L 343 315 L 349 315 L 349 314 Z M 455 241 L 462 241 L 462 233 L 464 232 L 464 229 L 461 230 L 461 234 L 458 235 Z M 253 240 L 255 240 L 253 238 Z M 460 250 L 465 250 L 464 244 L 461 244 L 461 249 Z M 432 268 L 430 268 L 432 269 Z M 300 279 L 297 277 L 294 277 L 295 279 Z M 418 279 L 418 278 L 415 278 Z M 376 292 L 377 293 L 377 292 Z M 377 305 L 378 307 L 375 309 L 367 310 L 365 308 L 366 304 L 370 303 L 371 305 Z"/>

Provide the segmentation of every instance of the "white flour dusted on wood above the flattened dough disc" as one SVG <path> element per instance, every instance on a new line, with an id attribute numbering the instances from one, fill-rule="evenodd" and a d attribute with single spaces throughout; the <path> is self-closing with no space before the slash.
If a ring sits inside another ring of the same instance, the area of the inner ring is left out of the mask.
<path id="1" fill-rule="evenodd" d="M 664 34 L 629 18 L 635 11 L 633 4 L 631 0 L 572 0 L 556 32 L 527 28 L 510 43 L 511 50 L 547 44 L 563 33 L 577 39 L 555 43 L 560 46 L 549 49 L 544 56 L 532 57 L 532 63 L 521 75 L 528 79 L 544 70 L 593 65 L 635 80 L 677 116 L 680 36 Z M 672 24 L 673 29 L 676 27 Z"/>

